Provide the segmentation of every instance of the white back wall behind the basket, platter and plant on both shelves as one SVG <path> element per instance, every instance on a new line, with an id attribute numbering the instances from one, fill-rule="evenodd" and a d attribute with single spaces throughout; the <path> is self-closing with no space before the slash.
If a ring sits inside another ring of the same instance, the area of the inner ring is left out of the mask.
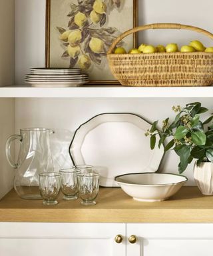
<path id="1" fill-rule="evenodd" d="M 139 24 L 173 22 L 185 23 L 212 29 L 212 0 L 196 4 L 194 0 L 138 0 Z M 45 0 L 16 0 L 16 83 L 23 84 L 29 67 L 43 67 L 45 63 Z M 171 42 L 187 44 L 200 39 L 211 45 L 209 39 L 188 31 L 147 31 L 138 35 L 139 43 L 166 44 Z M 212 43 L 213 45 L 213 43 Z M 184 93 L 184 89 L 183 89 Z M 172 116 L 172 105 L 184 105 L 190 101 L 202 101 L 212 109 L 212 99 L 17 99 L 16 131 L 21 127 L 51 127 L 56 129 L 64 149 L 68 147 L 69 136 L 75 129 L 93 115 L 103 112 L 130 112 L 149 121 L 162 120 Z M 67 152 L 61 149 L 63 152 Z M 56 153 L 56 151 L 54 151 Z M 57 153 L 56 153 L 57 154 Z M 57 159 L 59 160 L 59 159 Z M 59 160 L 67 164 L 69 160 Z M 164 158 L 162 171 L 177 172 L 178 158 L 168 153 Z M 193 184 L 192 165 L 184 173 Z"/>

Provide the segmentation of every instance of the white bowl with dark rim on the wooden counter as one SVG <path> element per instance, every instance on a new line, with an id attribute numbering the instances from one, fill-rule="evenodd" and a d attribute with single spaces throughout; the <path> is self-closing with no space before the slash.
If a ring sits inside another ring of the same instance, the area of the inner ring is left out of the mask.
<path id="1" fill-rule="evenodd" d="M 122 190 L 137 201 L 164 201 L 174 195 L 188 180 L 172 173 L 128 173 L 114 180 Z"/>

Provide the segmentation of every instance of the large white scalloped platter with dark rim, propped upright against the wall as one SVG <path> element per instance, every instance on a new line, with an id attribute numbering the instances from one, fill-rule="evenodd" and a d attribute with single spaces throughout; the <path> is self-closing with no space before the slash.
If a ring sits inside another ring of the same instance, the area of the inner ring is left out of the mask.
<path id="1" fill-rule="evenodd" d="M 74 165 L 95 165 L 101 185 L 118 187 L 114 177 L 123 173 L 157 171 L 164 149 L 150 149 L 144 133 L 151 125 L 130 113 L 104 113 L 83 123 L 70 145 Z"/>

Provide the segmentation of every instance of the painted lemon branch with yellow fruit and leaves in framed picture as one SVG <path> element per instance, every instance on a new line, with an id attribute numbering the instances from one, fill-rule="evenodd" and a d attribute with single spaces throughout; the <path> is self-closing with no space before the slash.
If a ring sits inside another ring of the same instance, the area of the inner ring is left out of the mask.
<path id="1" fill-rule="evenodd" d="M 71 3 L 67 28 L 57 27 L 63 45 L 67 48 L 62 57 L 70 58 L 70 67 L 76 64 L 89 69 L 92 63 L 100 65 L 112 41 L 120 32 L 115 27 L 103 27 L 107 11 L 121 8 L 122 0 L 79 0 Z M 122 43 L 121 43 L 122 44 Z"/>

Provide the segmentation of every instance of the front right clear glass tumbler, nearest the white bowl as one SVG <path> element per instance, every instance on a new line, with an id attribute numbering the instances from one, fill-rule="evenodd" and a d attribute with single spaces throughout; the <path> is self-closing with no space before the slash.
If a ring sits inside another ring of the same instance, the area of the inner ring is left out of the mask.
<path id="1" fill-rule="evenodd" d="M 79 197 L 82 205 L 95 205 L 99 193 L 98 173 L 77 173 Z"/>

